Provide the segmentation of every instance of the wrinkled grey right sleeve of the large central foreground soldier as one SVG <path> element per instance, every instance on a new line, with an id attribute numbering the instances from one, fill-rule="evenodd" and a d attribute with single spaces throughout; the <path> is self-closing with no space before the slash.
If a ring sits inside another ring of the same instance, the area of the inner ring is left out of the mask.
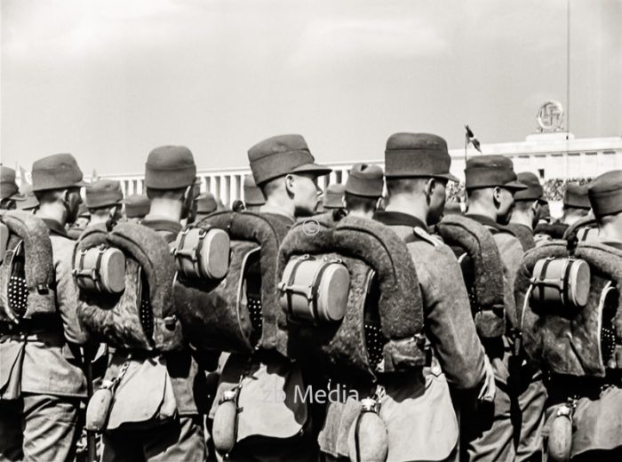
<path id="1" fill-rule="evenodd" d="M 484 350 L 458 261 L 444 244 L 427 254 L 421 245 L 428 244 L 409 248 L 424 298 L 427 338 L 451 386 L 474 388 L 484 378 Z"/>

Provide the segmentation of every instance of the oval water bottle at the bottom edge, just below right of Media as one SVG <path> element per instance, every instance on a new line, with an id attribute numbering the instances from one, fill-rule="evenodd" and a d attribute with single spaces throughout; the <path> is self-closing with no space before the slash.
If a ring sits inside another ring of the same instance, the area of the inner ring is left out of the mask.
<path id="1" fill-rule="evenodd" d="M 347 455 L 352 462 L 382 462 L 387 460 L 387 427 L 377 412 L 374 399 L 363 399 L 361 413 L 350 427 L 347 436 Z"/>

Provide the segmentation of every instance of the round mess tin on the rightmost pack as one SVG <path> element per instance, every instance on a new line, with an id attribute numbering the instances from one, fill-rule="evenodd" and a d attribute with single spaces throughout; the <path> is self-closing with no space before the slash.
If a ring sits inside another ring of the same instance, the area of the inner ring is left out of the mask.
<path id="1" fill-rule="evenodd" d="M 549 304 L 582 308 L 590 292 L 590 267 L 582 259 L 540 259 L 533 267 L 530 299 L 538 307 Z"/>

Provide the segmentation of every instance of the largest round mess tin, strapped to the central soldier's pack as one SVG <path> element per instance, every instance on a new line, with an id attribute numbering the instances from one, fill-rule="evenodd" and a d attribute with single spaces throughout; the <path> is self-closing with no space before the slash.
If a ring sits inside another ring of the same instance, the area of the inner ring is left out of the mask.
<path id="1" fill-rule="evenodd" d="M 340 260 L 291 259 L 278 287 L 279 303 L 291 319 L 332 323 L 346 315 L 350 274 Z"/>

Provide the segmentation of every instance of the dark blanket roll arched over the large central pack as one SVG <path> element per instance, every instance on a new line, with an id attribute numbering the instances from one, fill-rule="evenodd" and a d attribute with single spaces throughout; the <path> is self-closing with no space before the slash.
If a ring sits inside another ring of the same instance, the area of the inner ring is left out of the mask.
<path id="1" fill-rule="evenodd" d="M 279 280 L 287 262 L 297 255 L 337 254 L 345 259 L 362 261 L 375 271 L 378 278 L 380 326 L 388 339 L 384 347 L 384 371 L 421 366 L 425 362 L 425 354 L 418 341 L 423 330 L 423 305 L 415 267 L 406 244 L 390 228 L 370 219 L 347 216 L 335 221 L 331 214 L 325 214 L 315 217 L 314 221 L 313 232 L 309 232 L 304 222 L 299 223 L 283 240 L 279 253 Z M 355 285 L 363 285 L 359 284 L 362 279 L 357 268 L 348 267 L 351 281 Z M 353 290 L 364 289 L 353 286 Z M 359 295 L 364 297 L 364 294 Z M 348 310 L 354 309 L 349 303 Z M 326 341 L 330 345 L 323 349 L 339 360 L 361 355 L 358 351 L 361 332 L 358 331 L 363 329 L 363 325 L 348 323 L 352 315 L 346 314 L 337 331 L 329 326 L 324 329 L 330 334 L 323 336 L 328 337 Z M 352 331 L 344 331 L 344 326 L 351 326 Z M 406 341 L 408 339 L 411 341 Z"/>

